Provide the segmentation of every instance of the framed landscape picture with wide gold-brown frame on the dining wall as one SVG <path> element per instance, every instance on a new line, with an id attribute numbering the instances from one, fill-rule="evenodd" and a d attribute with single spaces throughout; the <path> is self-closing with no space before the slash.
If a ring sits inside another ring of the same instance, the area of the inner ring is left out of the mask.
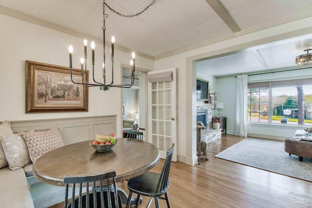
<path id="1" fill-rule="evenodd" d="M 87 112 L 89 88 L 74 84 L 70 68 L 26 60 L 26 113 Z M 81 70 L 72 69 L 73 80 L 81 82 Z M 84 71 L 89 80 L 89 71 Z"/>

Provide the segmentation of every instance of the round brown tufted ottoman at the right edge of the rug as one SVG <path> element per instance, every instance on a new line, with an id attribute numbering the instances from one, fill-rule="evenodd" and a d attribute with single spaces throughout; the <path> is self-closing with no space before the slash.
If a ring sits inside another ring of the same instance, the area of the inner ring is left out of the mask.
<path id="1" fill-rule="evenodd" d="M 299 156 L 299 161 L 304 157 L 312 158 L 312 142 L 301 140 L 300 136 L 289 136 L 284 139 L 285 151 L 289 155 Z"/>

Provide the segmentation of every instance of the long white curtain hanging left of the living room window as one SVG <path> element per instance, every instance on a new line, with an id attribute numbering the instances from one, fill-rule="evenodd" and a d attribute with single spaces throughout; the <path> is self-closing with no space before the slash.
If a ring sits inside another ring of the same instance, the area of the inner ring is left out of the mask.
<path id="1" fill-rule="evenodd" d="M 247 137 L 248 76 L 237 76 L 235 135 Z"/>

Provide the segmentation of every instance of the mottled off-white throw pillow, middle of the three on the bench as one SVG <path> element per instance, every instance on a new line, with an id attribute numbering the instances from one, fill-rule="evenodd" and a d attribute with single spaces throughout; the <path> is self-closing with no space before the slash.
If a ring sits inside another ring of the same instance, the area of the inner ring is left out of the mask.
<path id="1" fill-rule="evenodd" d="M 2 148 L 11 170 L 18 170 L 31 162 L 25 140 L 20 133 L 2 136 Z"/>

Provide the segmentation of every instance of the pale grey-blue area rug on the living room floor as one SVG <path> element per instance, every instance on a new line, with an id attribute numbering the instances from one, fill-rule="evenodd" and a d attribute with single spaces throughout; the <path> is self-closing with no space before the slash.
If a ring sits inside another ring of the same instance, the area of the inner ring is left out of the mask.
<path id="1" fill-rule="evenodd" d="M 312 159 L 300 162 L 281 141 L 246 138 L 215 157 L 312 182 Z"/>

